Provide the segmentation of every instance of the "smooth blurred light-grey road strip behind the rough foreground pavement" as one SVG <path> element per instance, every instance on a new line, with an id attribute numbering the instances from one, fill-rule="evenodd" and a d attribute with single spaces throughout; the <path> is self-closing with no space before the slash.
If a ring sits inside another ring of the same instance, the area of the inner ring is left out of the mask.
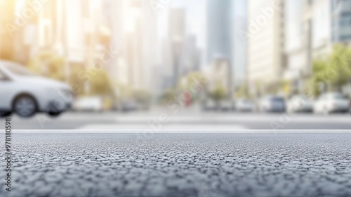
<path id="1" fill-rule="evenodd" d="M 136 113 L 64 113 L 52 118 L 12 116 L 13 129 L 351 129 L 350 114 L 200 113 L 170 110 Z M 0 120 L 0 128 L 4 121 Z"/>

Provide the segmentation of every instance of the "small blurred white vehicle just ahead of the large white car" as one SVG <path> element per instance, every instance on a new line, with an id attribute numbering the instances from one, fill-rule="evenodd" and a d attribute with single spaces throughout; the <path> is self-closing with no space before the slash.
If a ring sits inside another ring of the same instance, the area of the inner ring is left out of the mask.
<path id="1" fill-rule="evenodd" d="M 103 110 L 102 98 L 99 96 L 77 98 L 74 101 L 72 109 L 75 111 L 98 112 Z"/>

